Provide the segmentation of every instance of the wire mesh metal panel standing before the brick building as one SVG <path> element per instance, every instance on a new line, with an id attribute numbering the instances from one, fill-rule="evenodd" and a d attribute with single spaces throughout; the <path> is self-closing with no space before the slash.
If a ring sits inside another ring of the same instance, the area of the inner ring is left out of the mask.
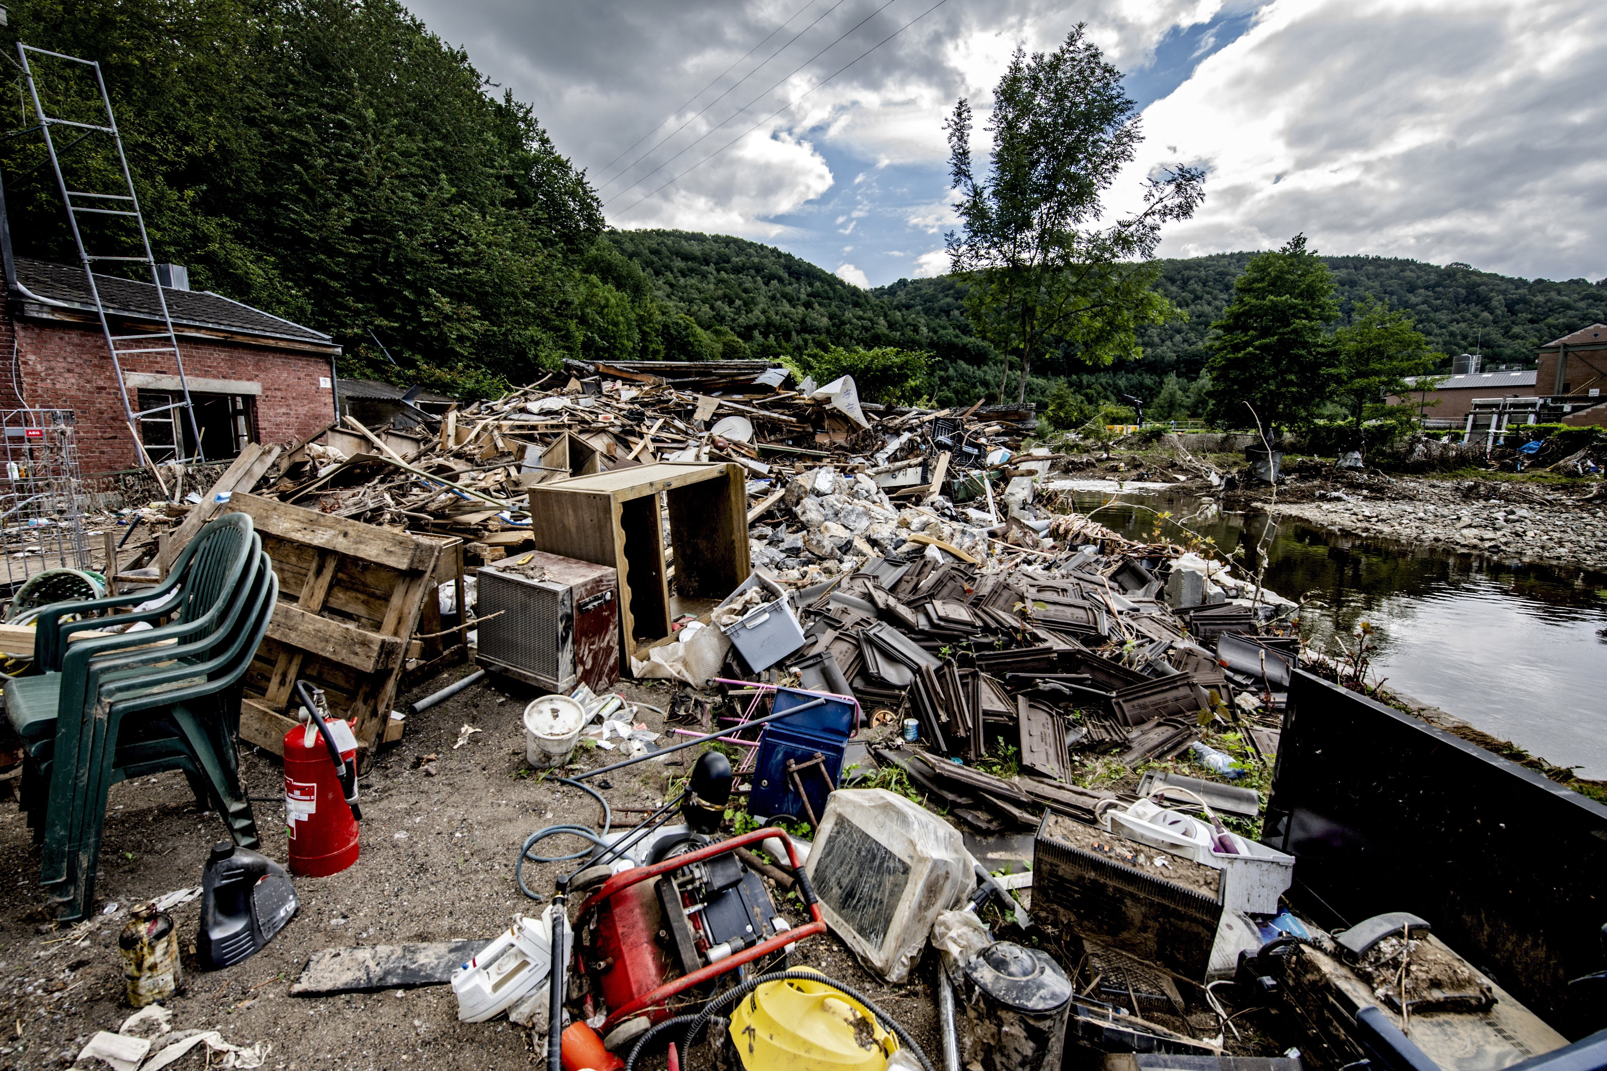
<path id="1" fill-rule="evenodd" d="M 0 440 L 5 583 L 47 568 L 88 568 L 72 409 L 0 409 Z"/>

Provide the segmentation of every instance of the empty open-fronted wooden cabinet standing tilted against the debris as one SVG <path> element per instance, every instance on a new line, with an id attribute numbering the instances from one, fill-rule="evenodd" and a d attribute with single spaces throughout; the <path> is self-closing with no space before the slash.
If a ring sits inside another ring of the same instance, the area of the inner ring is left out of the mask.
<path id="1" fill-rule="evenodd" d="M 622 655 L 669 636 L 680 613 L 714 609 L 752 572 L 738 464 L 657 462 L 535 485 L 530 536 L 538 551 L 619 572 Z"/>

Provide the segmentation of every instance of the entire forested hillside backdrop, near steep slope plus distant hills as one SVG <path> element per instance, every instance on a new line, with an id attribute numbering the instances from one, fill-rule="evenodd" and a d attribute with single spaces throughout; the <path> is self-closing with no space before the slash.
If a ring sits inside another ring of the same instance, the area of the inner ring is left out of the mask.
<path id="1" fill-rule="evenodd" d="M 951 279 L 860 291 L 739 238 L 607 231 L 587 177 L 530 108 L 493 92 L 399 0 L 29 0 L 0 27 L 5 55 L 18 40 L 101 63 L 157 259 L 188 265 L 196 289 L 331 334 L 342 374 L 472 397 L 566 356 L 804 358 L 858 345 L 930 352 L 926 387 L 942 405 L 996 395 L 1006 376 Z M 63 80 L 67 69 L 43 61 L 50 111 L 96 120 L 92 83 Z M 14 66 L 13 82 L 0 104 L 16 132 L 0 140 L 13 242 L 72 262 Z M 106 149 L 63 140 L 74 188 L 114 189 Z M 1143 352 L 1101 373 L 1040 360 L 1028 398 L 1045 401 L 1065 377 L 1085 403 L 1152 400 L 1168 376 L 1180 397 L 1249 257 L 1160 262 L 1180 318 L 1143 329 Z M 1482 347 L 1490 363 L 1525 363 L 1535 345 L 1607 321 L 1604 283 L 1327 263 L 1345 315 L 1366 294 L 1385 297 L 1437 350 Z"/>

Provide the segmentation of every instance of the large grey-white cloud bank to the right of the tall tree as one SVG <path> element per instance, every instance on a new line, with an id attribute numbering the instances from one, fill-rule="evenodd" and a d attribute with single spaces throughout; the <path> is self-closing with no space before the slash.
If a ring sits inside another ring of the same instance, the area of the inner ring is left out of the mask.
<path id="1" fill-rule="evenodd" d="M 1146 111 L 1118 186 L 1178 157 L 1210 165 L 1167 255 L 1305 231 L 1331 254 L 1596 279 L 1604 35 L 1596 0 L 1276 0 Z"/>

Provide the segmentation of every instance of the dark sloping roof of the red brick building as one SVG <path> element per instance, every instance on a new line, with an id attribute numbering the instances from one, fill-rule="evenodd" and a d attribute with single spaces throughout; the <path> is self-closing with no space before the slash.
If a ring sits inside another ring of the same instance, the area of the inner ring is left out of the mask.
<path id="1" fill-rule="evenodd" d="M 16 281 L 22 297 L 37 299 L 45 305 L 95 312 L 95 297 L 90 294 L 88 279 L 82 268 L 47 260 L 16 259 Z M 156 302 L 156 287 L 149 283 L 135 283 L 111 275 L 95 275 L 95 287 L 100 291 L 106 310 L 119 316 L 135 320 L 161 321 L 161 308 Z M 304 328 L 289 320 L 281 320 L 260 308 L 230 300 L 211 291 L 177 291 L 162 287 L 167 299 L 167 315 L 174 326 L 211 328 L 235 334 L 249 334 L 264 339 L 283 339 L 302 345 L 334 348 L 326 334 L 312 328 Z"/>

